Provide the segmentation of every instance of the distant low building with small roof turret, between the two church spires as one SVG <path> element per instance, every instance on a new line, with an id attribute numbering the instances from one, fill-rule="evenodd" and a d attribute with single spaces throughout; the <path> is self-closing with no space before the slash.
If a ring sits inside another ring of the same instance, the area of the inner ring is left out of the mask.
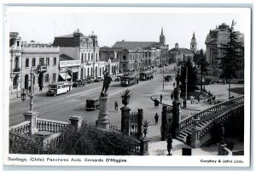
<path id="1" fill-rule="evenodd" d="M 175 43 L 175 47 L 169 51 L 169 59 L 172 62 L 187 61 L 188 59 L 193 60 L 194 51 L 188 48 L 179 48 L 178 43 Z"/>

